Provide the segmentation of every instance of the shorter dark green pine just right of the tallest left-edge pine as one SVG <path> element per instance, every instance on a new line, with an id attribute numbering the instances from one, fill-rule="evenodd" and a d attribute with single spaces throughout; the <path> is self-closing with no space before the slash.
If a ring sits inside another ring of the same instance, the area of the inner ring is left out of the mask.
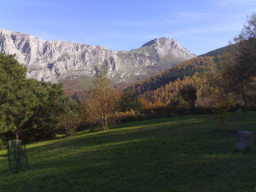
<path id="1" fill-rule="evenodd" d="M 24 142 L 53 138 L 58 132 L 58 116 L 62 114 L 59 106 L 68 99 L 62 84 L 32 81 L 30 90 L 38 98 L 38 105 L 34 107 L 29 121 L 22 126 L 21 138 Z"/>

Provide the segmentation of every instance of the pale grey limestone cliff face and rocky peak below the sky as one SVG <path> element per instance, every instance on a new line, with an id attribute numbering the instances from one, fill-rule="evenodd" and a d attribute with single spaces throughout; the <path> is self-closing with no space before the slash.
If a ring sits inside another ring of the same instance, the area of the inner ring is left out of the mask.
<path id="1" fill-rule="evenodd" d="M 27 67 L 28 78 L 50 82 L 78 75 L 94 76 L 101 66 L 106 66 L 110 78 L 133 82 L 136 77 L 148 77 L 196 56 L 170 38 L 154 39 L 136 50 L 115 51 L 106 46 L 44 41 L 1 29 L 0 52 L 16 54 L 18 62 Z"/>

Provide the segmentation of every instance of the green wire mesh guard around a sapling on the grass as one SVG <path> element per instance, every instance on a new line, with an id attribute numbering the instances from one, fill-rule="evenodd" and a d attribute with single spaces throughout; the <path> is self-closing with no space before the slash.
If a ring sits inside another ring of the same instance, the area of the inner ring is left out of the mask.
<path id="1" fill-rule="evenodd" d="M 26 146 L 22 146 L 18 139 L 9 141 L 7 154 L 10 170 L 20 170 L 29 167 Z"/>

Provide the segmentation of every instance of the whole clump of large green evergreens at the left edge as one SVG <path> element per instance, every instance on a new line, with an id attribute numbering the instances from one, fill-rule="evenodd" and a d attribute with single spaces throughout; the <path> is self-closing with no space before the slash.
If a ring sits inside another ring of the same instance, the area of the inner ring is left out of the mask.
<path id="1" fill-rule="evenodd" d="M 0 136 L 23 141 L 56 134 L 56 102 L 65 100 L 62 85 L 26 79 L 26 67 L 14 55 L 0 54 Z"/>

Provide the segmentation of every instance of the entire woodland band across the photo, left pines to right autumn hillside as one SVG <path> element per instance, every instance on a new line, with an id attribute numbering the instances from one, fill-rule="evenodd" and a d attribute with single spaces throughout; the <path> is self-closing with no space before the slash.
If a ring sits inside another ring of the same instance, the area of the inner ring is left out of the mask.
<path id="1" fill-rule="evenodd" d="M 256 108 L 256 14 L 232 46 L 163 71 L 126 90 L 115 89 L 104 69 L 89 90 L 74 94 L 62 84 L 26 78 L 15 55 L 0 54 L 0 145 L 69 136 L 109 123 L 193 113 Z M 124 85 L 125 87 L 126 85 Z M 69 96 L 69 97 L 66 97 Z"/>

